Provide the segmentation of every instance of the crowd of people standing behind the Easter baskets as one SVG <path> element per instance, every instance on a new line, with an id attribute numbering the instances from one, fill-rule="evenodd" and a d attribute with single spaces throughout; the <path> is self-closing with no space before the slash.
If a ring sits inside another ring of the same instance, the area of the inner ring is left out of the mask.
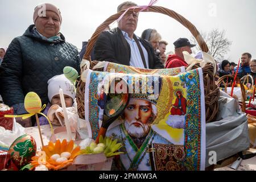
<path id="1" fill-rule="evenodd" d="M 117 7 L 117 12 L 137 6 L 126 1 Z M 42 8 L 45 13 L 42 13 Z M 155 28 L 147 28 L 141 36 L 135 35 L 139 13 L 126 13 L 118 22 L 118 27 L 110 27 L 99 36 L 91 57 L 92 60 L 110 61 L 138 68 L 162 69 L 187 67 L 183 51 L 192 54 L 195 44 L 187 38 L 179 38 L 174 42 L 175 52 L 167 52 L 168 42 Z M 52 93 L 51 80 L 63 74 L 63 68 L 73 67 L 80 73 L 80 63 L 86 51 L 88 42 L 82 43 L 81 52 L 68 43 L 60 32 L 63 22 L 60 10 L 50 3 L 35 7 L 34 23 L 23 35 L 13 39 L 7 50 L 0 48 L 0 95 L 6 105 L 14 108 L 14 114 L 24 114 L 24 97 L 28 92 L 36 92 L 42 104 L 51 106 L 53 99 L 59 98 L 58 93 Z M 197 58 L 197 57 L 196 57 Z M 237 65 L 223 60 L 218 67 L 218 76 L 230 75 L 236 72 Z M 250 74 L 255 79 L 256 60 L 251 60 L 250 53 L 243 53 L 238 68 L 238 77 Z M 68 80 L 55 81 L 63 87 L 67 98 L 66 105 L 72 106 L 75 96 Z M 65 83 L 65 84 L 64 84 Z M 65 85 L 65 86 L 63 86 Z M 55 85 L 56 86 L 56 85 Z M 57 88 L 59 88 L 57 86 Z M 55 88 L 55 90 L 57 90 Z M 72 97 L 71 97 L 72 96 Z M 56 103 L 59 103 L 56 101 Z M 23 126 L 34 126 L 35 118 L 17 121 Z"/>

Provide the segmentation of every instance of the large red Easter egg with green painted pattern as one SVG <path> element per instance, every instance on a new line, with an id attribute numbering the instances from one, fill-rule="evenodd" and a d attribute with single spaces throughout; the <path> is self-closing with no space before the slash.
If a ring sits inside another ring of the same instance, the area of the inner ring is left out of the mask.
<path id="1" fill-rule="evenodd" d="M 31 162 L 32 156 L 36 154 L 35 139 L 31 135 L 24 134 L 14 140 L 8 154 L 19 169 Z"/>

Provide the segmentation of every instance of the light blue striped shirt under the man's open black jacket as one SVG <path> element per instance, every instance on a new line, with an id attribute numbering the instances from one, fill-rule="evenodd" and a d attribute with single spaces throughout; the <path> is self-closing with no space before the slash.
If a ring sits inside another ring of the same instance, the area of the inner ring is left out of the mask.
<path id="1" fill-rule="evenodd" d="M 144 64 L 143 64 L 143 61 L 142 61 L 142 58 L 141 58 L 141 53 L 139 52 L 139 48 L 137 46 L 137 43 L 135 42 L 134 39 L 131 39 L 128 36 L 127 32 L 122 31 L 122 34 L 125 37 L 125 39 L 127 40 L 127 42 L 129 43 L 130 48 L 131 48 L 130 66 L 131 67 L 136 67 L 136 68 L 144 68 Z M 137 35 L 135 35 L 135 36 L 139 40 L 139 37 Z M 146 50 L 146 48 L 144 48 L 144 46 L 142 45 L 142 43 L 140 41 L 139 41 L 139 44 L 142 47 L 142 51 L 143 51 L 143 54 L 144 54 L 144 57 L 145 57 L 145 60 L 146 60 L 147 68 L 149 68 L 147 50 Z"/>

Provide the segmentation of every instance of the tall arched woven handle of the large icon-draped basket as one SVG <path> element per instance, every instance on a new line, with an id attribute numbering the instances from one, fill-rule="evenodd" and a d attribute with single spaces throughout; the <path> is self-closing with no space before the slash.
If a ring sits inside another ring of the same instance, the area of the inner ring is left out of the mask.
<path id="1" fill-rule="evenodd" d="M 137 7 L 135 9 L 128 10 L 127 13 L 138 13 L 141 9 L 142 9 L 142 7 Z M 122 10 L 122 11 L 119 11 L 117 14 L 114 14 L 114 15 L 110 16 L 108 19 L 105 20 L 105 22 L 103 22 L 96 29 L 96 31 L 92 35 L 92 38 L 90 38 L 90 40 L 88 42 L 88 45 L 87 45 L 87 48 L 86 48 L 86 52 L 84 54 L 83 59 L 91 61 L 90 53 L 92 52 L 93 46 L 96 43 L 96 40 L 98 39 L 98 36 L 100 36 L 101 32 L 104 31 L 105 28 L 109 26 L 109 24 L 113 23 L 123 13 L 125 13 L 125 11 L 126 10 Z M 189 20 L 185 19 L 180 14 L 177 14 L 175 11 L 167 9 L 165 7 L 162 7 L 162 6 L 149 6 L 148 9 L 143 10 L 142 12 L 162 13 L 162 14 L 171 16 L 171 18 L 176 19 L 178 22 L 183 24 L 184 27 L 188 28 L 188 30 L 191 32 L 191 34 L 195 37 L 197 43 L 199 43 L 199 46 L 200 46 L 202 51 L 204 51 L 204 52 L 208 52 L 209 51 L 207 44 L 205 43 L 204 39 L 202 38 L 201 34 L 196 29 L 196 27 L 191 22 L 189 22 Z"/>

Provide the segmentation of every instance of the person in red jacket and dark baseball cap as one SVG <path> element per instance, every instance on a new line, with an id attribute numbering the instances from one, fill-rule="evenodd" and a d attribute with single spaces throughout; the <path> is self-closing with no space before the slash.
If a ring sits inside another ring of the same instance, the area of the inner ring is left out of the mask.
<path id="1" fill-rule="evenodd" d="M 192 53 L 191 48 L 195 47 L 195 44 L 191 44 L 187 38 L 179 38 L 174 42 L 175 54 L 169 55 L 166 68 L 187 67 L 188 63 L 184 60 L 183 51 Z"/>

